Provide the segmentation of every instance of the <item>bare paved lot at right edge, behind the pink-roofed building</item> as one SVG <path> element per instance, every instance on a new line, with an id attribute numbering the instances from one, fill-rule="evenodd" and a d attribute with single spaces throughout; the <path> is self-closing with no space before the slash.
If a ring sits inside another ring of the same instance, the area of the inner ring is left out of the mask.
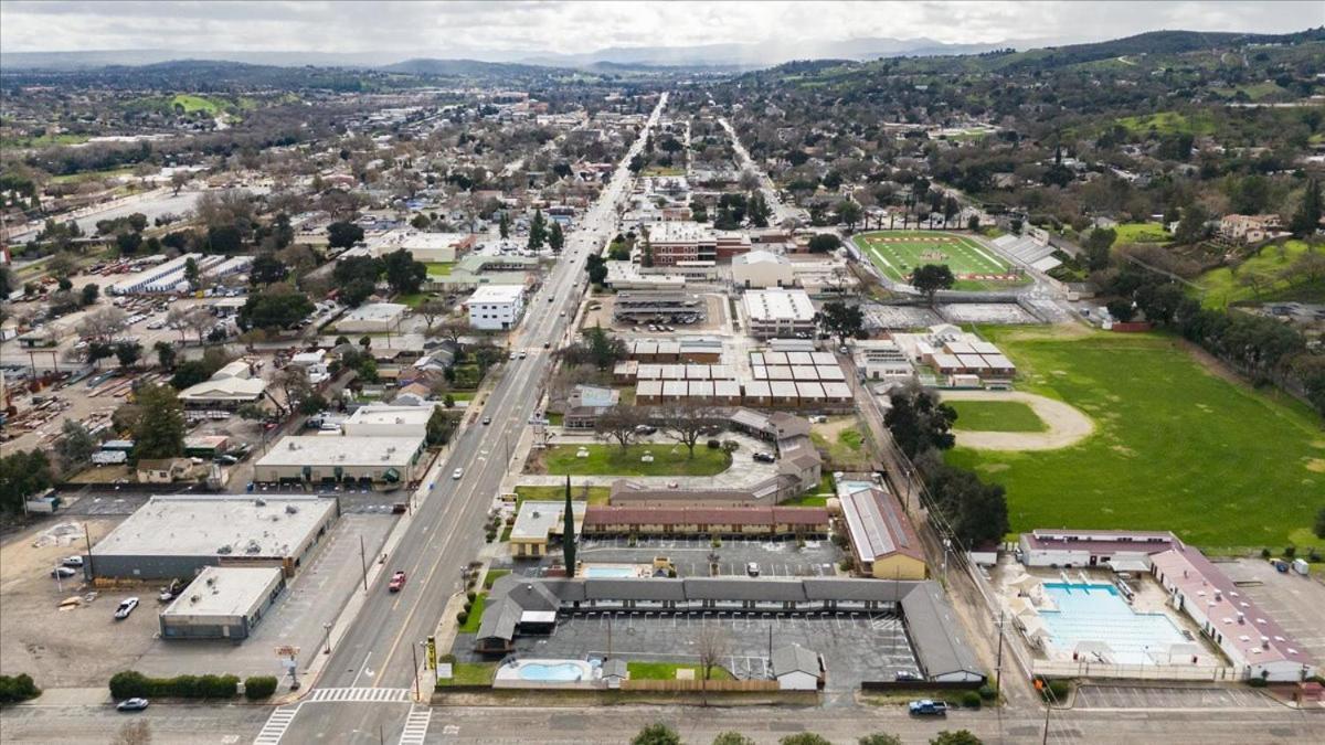
<path id="1" fill-rule="evenodd" d="M 1257 606 L 1271 615 L 1304 650 L 1325 660 L 1325 585 L 1296 573 L 1280 574 L 1263 559 L 1222 562 L 1228 575 Z M 1314 567 L 1317 571 L 1320 566 Z"/>

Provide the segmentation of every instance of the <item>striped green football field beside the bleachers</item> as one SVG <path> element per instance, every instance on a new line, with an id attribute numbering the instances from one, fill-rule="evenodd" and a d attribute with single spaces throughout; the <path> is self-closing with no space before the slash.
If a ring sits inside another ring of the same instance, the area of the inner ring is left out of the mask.
<path id="1" fill-rule="evenodd" d="M 861 251 L 888 278 L 905 282 L 925 264 L 946 264 L 957 277 L 954 289 L 983 290 L 1014 286 L 1026 277 L 994 249 L 957 233 L 878 231 L 855 236 Z"/>

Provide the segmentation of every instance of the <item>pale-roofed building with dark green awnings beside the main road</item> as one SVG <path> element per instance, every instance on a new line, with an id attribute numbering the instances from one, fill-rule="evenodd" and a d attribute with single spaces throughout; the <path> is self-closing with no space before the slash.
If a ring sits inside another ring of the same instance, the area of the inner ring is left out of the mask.
<path id="1" fill-rule="evenodd" d="M 290 435 L 253 465 L 260 484 L 305 483 L 408 485 L 423 476 L 423 435 L 321 436 Z"/>

